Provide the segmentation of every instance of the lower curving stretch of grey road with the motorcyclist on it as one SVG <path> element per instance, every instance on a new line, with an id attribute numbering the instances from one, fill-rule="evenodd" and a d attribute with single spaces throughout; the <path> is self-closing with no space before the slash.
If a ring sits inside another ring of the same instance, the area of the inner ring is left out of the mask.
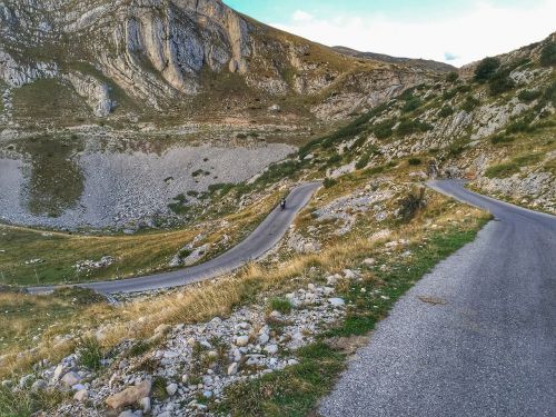
<path id="1" fill-rule="evenodd" d="M 309 202 L 311 196 L 319 187 L 320 182 L 310 182 L 296 187 L 287 198 L 286 210 L 277 207 L 242 242 L 205 264 L 171 272 L 116 281 L 79 284 L 78 286 L 90 288 L 105 295 L 138 292 L 181 287 L 228 274 L 246 262 L 261 257 L 275 247 L 288 230 L 296 215 Z M 30 294 L 48 294 L 53 288 L 31 287 L 28 288 L 28 291 Z"/>

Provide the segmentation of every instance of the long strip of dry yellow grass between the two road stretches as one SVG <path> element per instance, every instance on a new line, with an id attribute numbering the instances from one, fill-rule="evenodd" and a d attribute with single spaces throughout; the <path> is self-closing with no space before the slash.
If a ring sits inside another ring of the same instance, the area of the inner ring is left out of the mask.
<path id="1" fill-rule="evenodd" d="M 413 222 L 394 230 L 386 238 L 373 240 L 364 234 L 356 232 L 347 240 L 328 245 L 319 254 L 296 255 L 274 265 L 250 264 L 235 275 L 193 285 L 152 299 L 131 301 L 121 308 L 92 305 L 79 312 L 79 316 L 83 318 L 79 327 L 90 332 L 101 328 L 102 344 L 109 348 L 127 338 L 149 338 L 161 324 L 198 322 L 215 316 L 227 316 L 234 308 L 254 301 L 258 295 L 284 292 L 299 286 L 299 280 L 292 278 L 307 276 L 311 267 L 317 267 L 320 271 L 338 272 L 344 268 L 359 265 L 360 260 L 371 256 L 385 239 L 404 238 L 420 241 L 424 234 L 433 227 L 431 218 L 434 228 L 441 230 L 455 224 L 476 222 L 485 218 L 485 214 L 478 209 L 450 202 L 445 197 L 434 193 L 426 210 Z M 42 305 L 43 301 L 39 302 Z M 14 326 L 23 328 L 24 324 L 16 322 Z M 9 376 L 24 369 L 39 358 L 56 360 L 68 355 L 75 348 L 75 340 L 54 342 L 54 337 L 60 335 L 60 330 L 67 331 L 67 329 L 64 326 L 49 329 L 43 335 L 43 342 L 33 355 L 18 356 L 18 351 L 8 353 L 0 369 L 0 376 Z"/>

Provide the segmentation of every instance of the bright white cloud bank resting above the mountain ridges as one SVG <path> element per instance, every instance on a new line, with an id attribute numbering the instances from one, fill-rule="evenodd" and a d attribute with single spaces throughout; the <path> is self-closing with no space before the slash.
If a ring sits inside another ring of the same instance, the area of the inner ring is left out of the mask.
<path id="1" fill-rule="evenodd" d="M 328 46 L 461 66 L 544 39 L 556 30 L 555 16 L 554 0 L 522 8 L 477 2 L 444 20 L 407 22 L 383 14 L 319 19 L 297 10 L 289 23 L 272 26 Z"/>

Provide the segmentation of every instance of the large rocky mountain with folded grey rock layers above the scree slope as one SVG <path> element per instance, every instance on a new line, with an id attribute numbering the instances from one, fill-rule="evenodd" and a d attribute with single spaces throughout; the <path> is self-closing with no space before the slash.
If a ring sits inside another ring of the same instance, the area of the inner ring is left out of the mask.
<path id="1" fill-rule="evenodd" d="M 349 57 L 220 0 L 0 2 L 4 122 L 24 127 L 339 120 L 437 72 Z"/>

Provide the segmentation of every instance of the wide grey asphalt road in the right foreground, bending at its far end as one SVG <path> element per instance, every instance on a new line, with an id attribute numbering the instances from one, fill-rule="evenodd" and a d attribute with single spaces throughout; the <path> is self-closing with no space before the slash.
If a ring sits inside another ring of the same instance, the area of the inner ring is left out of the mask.
<path id="1" fill-rule="evenodd" d="M 320 414 L 556 416 L 556 217 L 430 187 L 496 221 L 396 304 Z"/>

